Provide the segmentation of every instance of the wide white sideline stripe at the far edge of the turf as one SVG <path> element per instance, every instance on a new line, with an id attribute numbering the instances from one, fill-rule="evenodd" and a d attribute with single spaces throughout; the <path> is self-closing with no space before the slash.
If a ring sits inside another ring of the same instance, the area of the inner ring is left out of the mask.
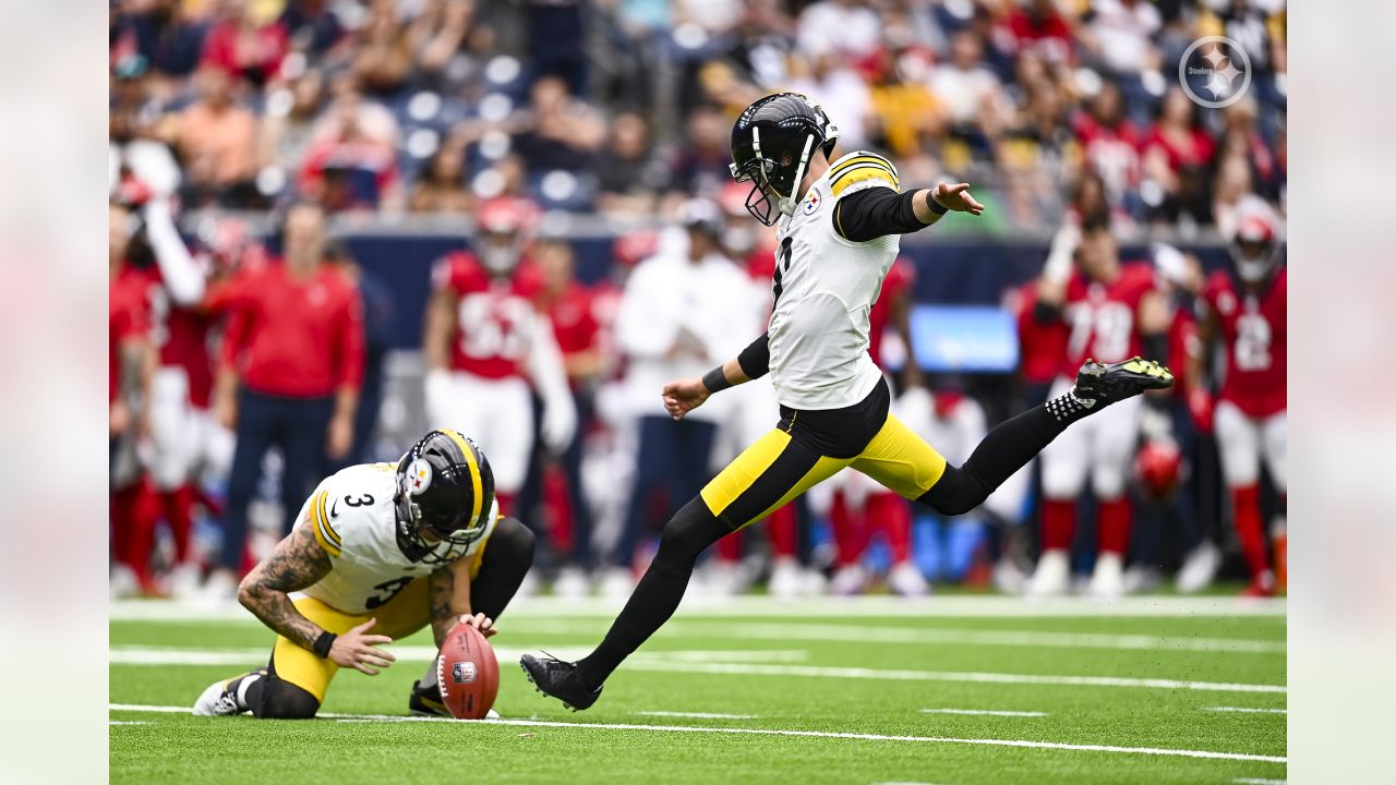
<path id="1" fill-rule="evenodd" d="M 551 596 L 522 598 L 510 605 L 507 619 L 521 617 L 585 617 L 613 619 L 624 606 L 624 599 L 560 599 Z M 1029 602 L 1019 596 L 933 596 L 924 601 L 905 601 L 892 596 L 864 598 L 808 598 L 780 601 L 769 596 L 712 598 L 690 594 L 678 609 L 678 617 L 713 616 L 719 619 L 807 617 L 828 619 L 829 613 L 846 610 L 859 616 L 884 617 L 1062 617 L 1062 616 L 1153 616 L 1153 617 L 1238 617 L 1259 616 L 1283 622 L 1287 612 L 1284 599 L 1241 601 L 1224 596 L 1127 596 L 1120 602 L 1103 603 L 1086 598 L 1065 596 Z M 222 603 L 127 599 L 107 606 L 114 622 L 229 622 L 258 623 L 233 601 Z"/>

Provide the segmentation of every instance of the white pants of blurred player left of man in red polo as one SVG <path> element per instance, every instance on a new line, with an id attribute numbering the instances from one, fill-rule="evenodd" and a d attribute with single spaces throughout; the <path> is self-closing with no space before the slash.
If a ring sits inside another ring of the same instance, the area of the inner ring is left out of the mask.
<path id="1" fill-rule="evenodd" d="M 163 366 L 151 380 L 151 454 L 147 465 L 158 490 L 174 490 L 200 472 L 228 476 L 235 437 L 208 409 L 188 399 L 188 374 Z"/>

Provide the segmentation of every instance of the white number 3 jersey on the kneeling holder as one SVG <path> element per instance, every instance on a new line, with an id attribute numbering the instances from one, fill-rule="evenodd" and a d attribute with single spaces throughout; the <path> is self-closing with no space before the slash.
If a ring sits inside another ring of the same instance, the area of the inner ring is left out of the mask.
<path id="1" fill-rule="evenodd" d="M 320 546 L 329 555 L 332 568 L 297 594 L 313 596 L 343 613 L 364 613 L 385 605 L 415 578 L 440 567 L 412 562 L 398 548 L 392 506 L 395 469 L 395 464 L 349 467 L 321 480 L 310 494 L 296 525 L 313 528 Z M 456 559 L 470 559 L 482 552 L 484 541 L 494 534 L 498 514 L 496 501 L 484 535 L 461 550 Z M 438 548 L 444 549 L 445 543 Z"/>

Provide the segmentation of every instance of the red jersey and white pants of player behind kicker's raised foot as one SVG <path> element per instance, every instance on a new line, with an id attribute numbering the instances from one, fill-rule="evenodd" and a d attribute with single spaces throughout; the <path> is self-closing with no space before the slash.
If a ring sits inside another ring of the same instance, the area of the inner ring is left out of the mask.
<path id="1" fill-rule="evenodd" d="M 1148 263 L 1122 264 L 1111 282 L 1090 281 L 1081 272 L 1071 278 L 1062 307 L 1069 328 L 1065 362 L 1050 397 L 1071 388 L 1086 359 L 1114 363 L 1141 353 L 1139 303 L 1152 291 L 1154 270 Z M 1076 420 L 1048 444 L 1041 453 L 1043 496 L 1076 499 L 1089 476 L 1097 499 L 1121 499 L 1139 436 L 1142 404 L 1141 397 L 1114 404 Z"/>

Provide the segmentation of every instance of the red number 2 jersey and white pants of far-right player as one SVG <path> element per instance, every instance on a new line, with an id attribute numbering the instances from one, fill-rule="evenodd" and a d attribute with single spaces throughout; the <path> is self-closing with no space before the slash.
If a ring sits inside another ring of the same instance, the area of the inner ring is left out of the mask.
<path id="1" fill-rule="evenodd" d="M 1276 272 L 1256 293 L 1216 272 L 1203 289 L 1226 344 L 1226 379 L 1217 397 L 1215 429 L 1222 471 L 1231 487 L 1259 482 L 1261 460 L 1279 490 L 1286 474 L 1286 307 L 1287 277 Z"/>

